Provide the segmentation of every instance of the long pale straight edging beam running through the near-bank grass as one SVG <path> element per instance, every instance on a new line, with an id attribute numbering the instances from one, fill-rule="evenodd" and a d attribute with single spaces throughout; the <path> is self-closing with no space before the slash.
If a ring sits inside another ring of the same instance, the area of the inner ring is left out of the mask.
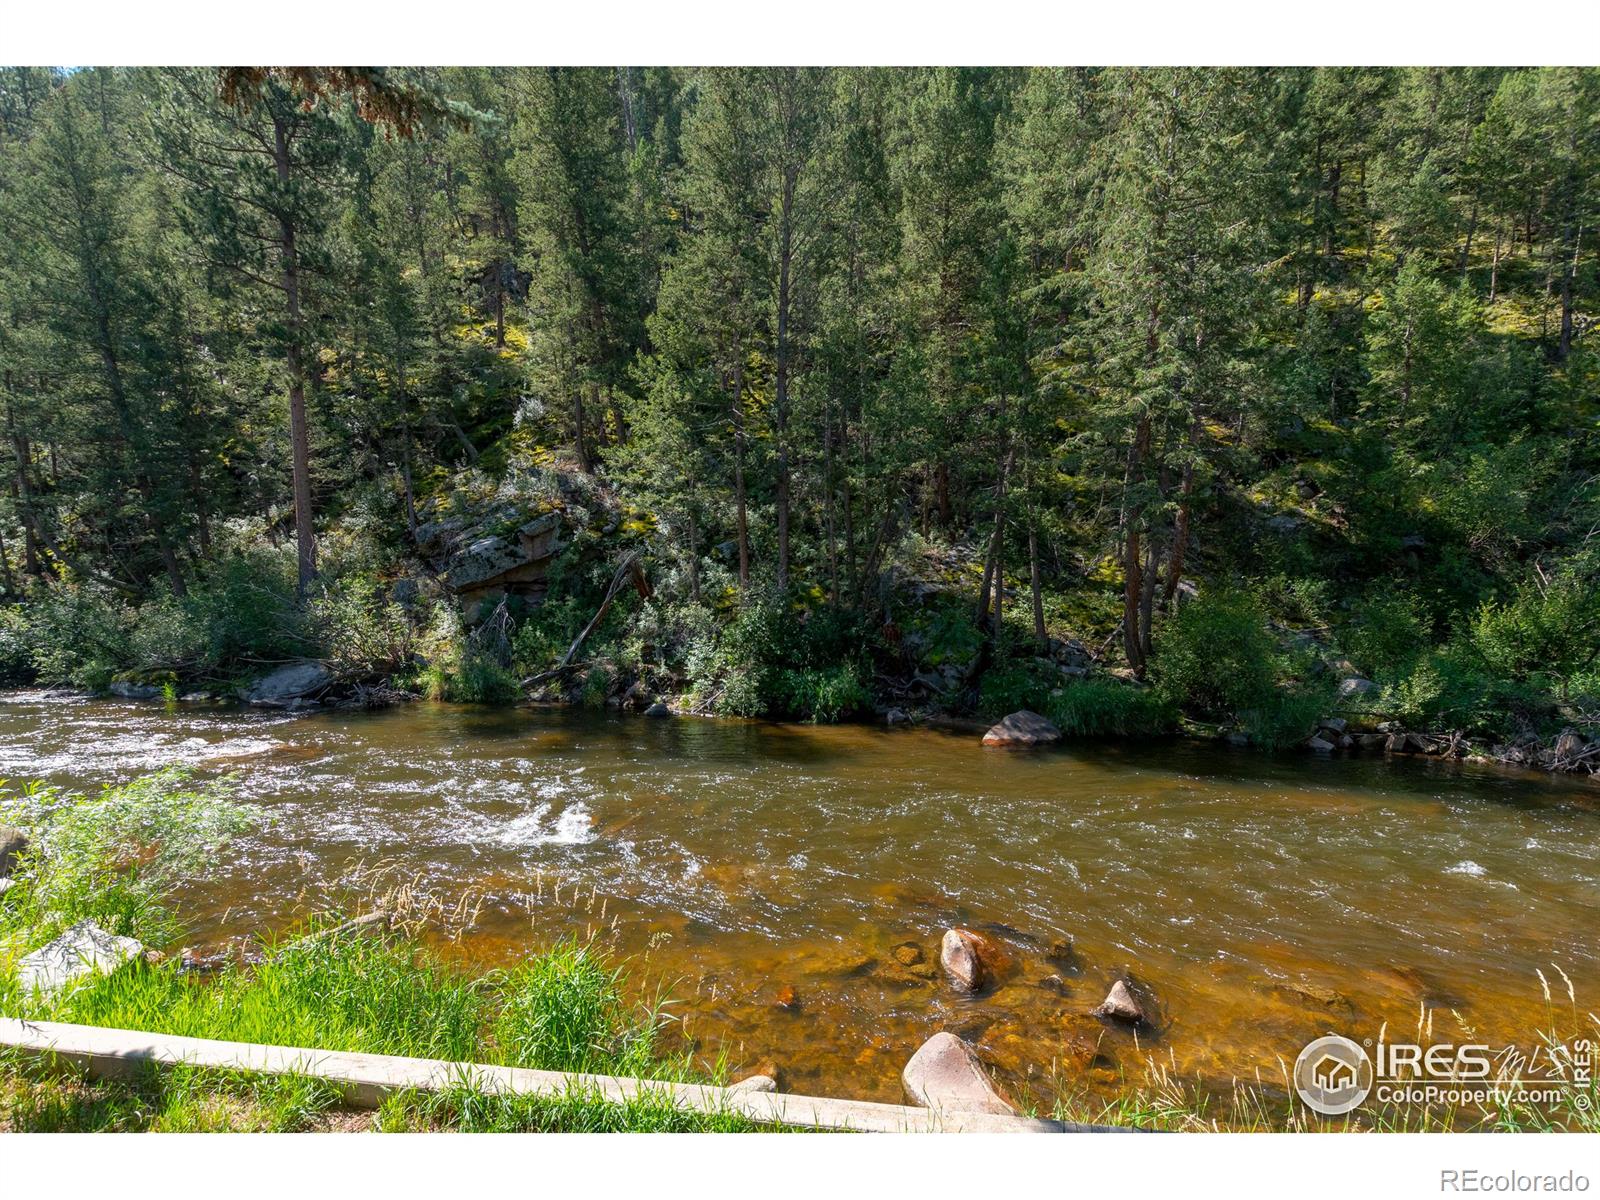
<path id="1" fill-rule="evenodd" d="M 394 1091 L 450 1091 L 459 1086 L 491 1094 L 565 1096 L 573 1091 L 626 1101 L 658 1094 L 696 1112 L 736 1112 L 763 1125 L 802 1125 L 861 1133 L 1090 1133 L 1109 1126 L 1069 1125 L 981 1112 L 934 1112 L 902 1104 L 741 1091 L 696 1083 L 574 1075 L 482 1062 L 446 1062 L 392 1054 L 355 1054 L 250 1042 L 101 1029 L 58 1021 L 0 1018 L 0 1045 L 38 1058 L 54 1058 L 94 1078 L 126 1078 L 146 1064 L 243 1070 L 261 1075 L 307 1075 L 333 1083 L 346 1102 L 373 1109 Z"/>

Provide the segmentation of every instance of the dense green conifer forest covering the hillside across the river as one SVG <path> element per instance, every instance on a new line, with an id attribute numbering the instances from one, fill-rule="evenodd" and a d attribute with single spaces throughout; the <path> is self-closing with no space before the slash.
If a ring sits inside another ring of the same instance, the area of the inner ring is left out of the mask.
<path id="1" fill-rule="evenodd" d="M 5 69 L 0 672 L 1587 762 L 1597 179 L 1589 69 Z"/>

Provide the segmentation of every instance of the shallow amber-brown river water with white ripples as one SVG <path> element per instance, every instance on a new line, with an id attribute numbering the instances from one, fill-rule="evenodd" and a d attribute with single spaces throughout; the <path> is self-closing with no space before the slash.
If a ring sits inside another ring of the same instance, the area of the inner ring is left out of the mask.
<path id="1" fill-rule="evenodd" d="M 1530 1045 L 1600 1005 L 1600 787 L 1435 760 L 1187 742 L 986 749 L 974 733 L 413 704 L 288 715 L 0 696 L 0 778 L 234 773 L 269 821 L 178 898 L 195 944 L 267 933 L 357 867 L 477 907 L 504 965 L 603 936 L 698 1054 L 899 1101 L 933 1032 L 1019 1098 L 1109 1096 L 1154 1054 L 1282 1085 L 1325 1032 Z M 957 995 L 942 931 L 998 952 Z M 1072 950 L 1064 950 L 1070 939 Z M 922 952 L 904 944 L 914 942 Z M 1131 970 L 1158 1030 L 1090 1016 Z M 1536 971 L 1550 981 L 1546 1002 Z M 1456 1016 L 1453 1016 L 1454 1013 Z"/>

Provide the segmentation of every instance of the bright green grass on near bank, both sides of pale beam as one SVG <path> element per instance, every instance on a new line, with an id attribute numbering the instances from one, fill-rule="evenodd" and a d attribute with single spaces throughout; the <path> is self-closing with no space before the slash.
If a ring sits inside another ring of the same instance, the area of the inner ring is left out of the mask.
<path id="1" fill-rule="evenodd" d="M 693 1082 L 686 1056 L 658 1051 L 659 1005 L 624 998 L 626 971 L 592 946 L 562 942 L 506 971 L 470 976 L 406 939 L 323 934 L 213 978 L 136 962 L 56 998 L 27 997 L 0 971 L 0 1011 L 48 1021 L 226 1042 L 442 1058 L 546 1070 Z M 0 1061 L 0 1128 L 331 1128 L 339 1098 L 317 1080 L 174 1069 L 88 1082 Z M 470 1091 L 390 1098 L 360 1128 L 749 1130 L 731 1112 L 693 1114 L 664 1094 L 626 1104 L 574 1088 L 560 1098 Z M 362 1123 L 365 1122 L 365 1123 Z M 342 1125 L 341 1125 L 342 1128 Z"/>

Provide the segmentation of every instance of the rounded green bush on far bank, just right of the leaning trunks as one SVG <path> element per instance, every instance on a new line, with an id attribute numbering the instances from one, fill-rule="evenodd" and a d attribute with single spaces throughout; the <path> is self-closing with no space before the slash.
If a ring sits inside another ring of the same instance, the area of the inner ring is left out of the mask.
<path id="1" fill-rule="evenodd" d="M 1221 720 L 1270 696 L 1278 650 L 1250 594 L 1208 589 L 1170 616 L 1158 634 L 1150 675 L 1171 704 Z"/>

